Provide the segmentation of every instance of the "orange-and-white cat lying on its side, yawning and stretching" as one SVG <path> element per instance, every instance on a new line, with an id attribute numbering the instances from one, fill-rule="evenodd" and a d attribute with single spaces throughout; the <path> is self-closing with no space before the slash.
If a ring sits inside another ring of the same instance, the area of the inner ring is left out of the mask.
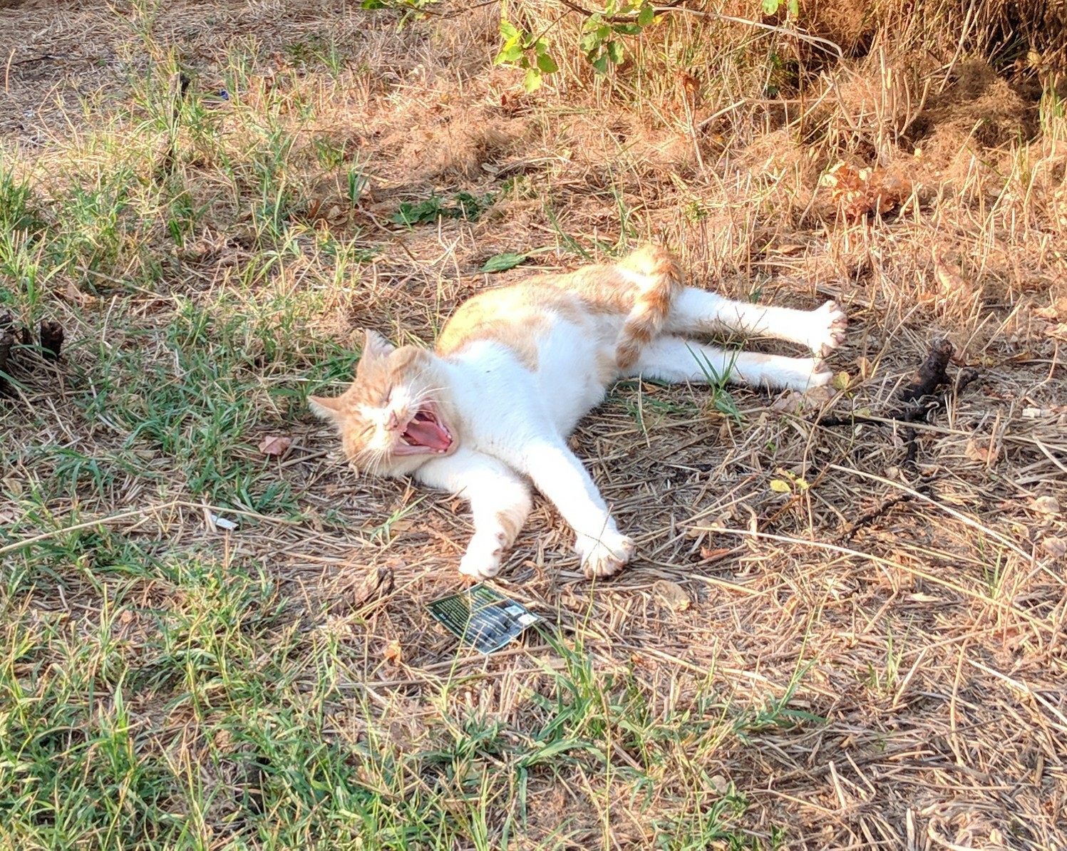
<path id="1" fill-rule="evenodd" d="M 495 576 L 530 511 L 530 483 L 575 533 L 586 576 L 622 569 L 622 534 L 567 444 L 617 380 L 720 379 L 805 390 L 829 383 L 822 356 L 844 340 L 833 302 L 815 310 L 734 302 L 684 286 L 678 260 L 646 245 L 614 264 L 543 274 L 467 300 L 434 351 L 395 348 L 373 331 L 340 396 L 309 397 L 345 454 L 370 473 L 414 476 L 471 503 L 474 535 L 460 573 Z M 691 339 L 715 331 L 801 343 L 813 357 L 726 351 Z"/>

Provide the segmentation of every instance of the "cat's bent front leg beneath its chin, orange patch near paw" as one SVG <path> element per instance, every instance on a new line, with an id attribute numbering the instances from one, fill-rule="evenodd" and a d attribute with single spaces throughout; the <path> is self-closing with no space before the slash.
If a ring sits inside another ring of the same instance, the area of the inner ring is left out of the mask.
<path id="1" fill-rule="evenodd" d="M 530 512 L 529 485 L 495 457 L 460 447 L 428 461 L 415 478 L 466 499 L 474 514 L 474 536 L 460 560 L 460 573 L 476 579 L 496 576 Z"/>

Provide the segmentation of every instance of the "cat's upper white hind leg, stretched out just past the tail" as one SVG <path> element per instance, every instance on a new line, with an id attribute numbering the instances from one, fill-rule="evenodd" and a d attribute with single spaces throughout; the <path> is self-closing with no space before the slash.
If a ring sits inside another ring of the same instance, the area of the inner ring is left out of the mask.
<path id="1" fill-rule="evenodd" d="M 848 320 L 835 302 L 814 310 L 796 310 L 724 299 L 714 292 L 684 287 L 674 295 L 664 330 L 670 334 L 737 331 L 764 334 L 807 346 L 825 356 L 845 340 Z"/>

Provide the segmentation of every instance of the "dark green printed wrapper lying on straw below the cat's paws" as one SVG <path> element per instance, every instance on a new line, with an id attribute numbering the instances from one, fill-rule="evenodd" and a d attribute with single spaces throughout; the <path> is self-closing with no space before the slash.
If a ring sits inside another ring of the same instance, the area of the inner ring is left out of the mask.
<path id="1" fill-rule="evenodd" d="M 445 629 L 484 654 L 500 649 L 544 620 L 482 583 L 435 599 L 427 608 Z"/>

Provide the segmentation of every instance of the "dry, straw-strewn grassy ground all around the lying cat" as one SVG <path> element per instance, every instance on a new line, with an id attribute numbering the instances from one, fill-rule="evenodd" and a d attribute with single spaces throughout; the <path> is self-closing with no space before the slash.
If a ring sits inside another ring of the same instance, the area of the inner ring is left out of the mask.
<path id="1" fill-rule="evenodd" d="M 770 97 L 787 42 L 687 16 L 526 96 L 492 6 L 0 15 L 0 312 L 68 339 L 0 400 L 0 842 L 1067 847 L 1051 82 L 1038 105 L 953 45 L 875 44 Z M 846 221 L 818 186 L 841 158 L 915 193 Z M 394 221 L 460 193 L 472 221 Z M 700 286 L 846 304 L 843 389 L 617 387 L 574 439 L 640 557 L 590 584 L 540 503 L 497 584 L 553 631 L 472 657 L 424 608 L 462 504 L 357 478 L 303 400 L 356 327 L 432 339 L 493 255 L 650 237 Z M 942 336 L 980 378 L 912 466 L 878 418 Z M 816 424 L 854 414 L 878 421 Z"/>

